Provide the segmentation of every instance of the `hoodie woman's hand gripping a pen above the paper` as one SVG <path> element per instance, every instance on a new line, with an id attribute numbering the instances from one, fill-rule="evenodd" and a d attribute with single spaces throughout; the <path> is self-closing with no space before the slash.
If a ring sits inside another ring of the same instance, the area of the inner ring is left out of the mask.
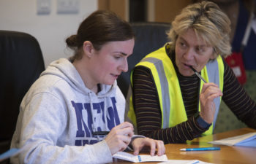
<path id="1" fill-rule="evenodd" d="M 111 154 L 123 151 L 129 145 L 133 136 L 133 126 L 129 122 L 123 122 L 110 130 L 105 141 L 110 148 Z"/>

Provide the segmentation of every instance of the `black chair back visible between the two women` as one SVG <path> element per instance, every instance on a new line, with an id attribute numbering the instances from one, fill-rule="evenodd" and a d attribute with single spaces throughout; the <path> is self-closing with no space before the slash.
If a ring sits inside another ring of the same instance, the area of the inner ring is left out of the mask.
<path id="1" fill-rule="evenodd" d="M 135 31 L 135 47 L 132 55 L 128 58 L 128 71 L 123 72 L 117 79 L 118 87 L 124 96 L 130 84 L 130 73 L 134 66 L 148 53 L 162 47 L 167 39 L 167 31 L 170 23 L 131 23 Z"/>

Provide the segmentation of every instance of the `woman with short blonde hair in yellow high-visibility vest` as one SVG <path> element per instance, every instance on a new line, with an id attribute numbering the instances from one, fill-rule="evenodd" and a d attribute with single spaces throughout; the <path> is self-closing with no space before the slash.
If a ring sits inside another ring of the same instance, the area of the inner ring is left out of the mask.
<path id="1" fill-rule="evenodd" d="M 168 32 L 171 42 L 146 55 L 132 71 L 128 117 L 138 133 L 167 143 L 211 134 L 223 100 L 239 120 L 256 128 L 256 104 L 224 57 L 230 20 L 217 4 L 190 4 Z"/>

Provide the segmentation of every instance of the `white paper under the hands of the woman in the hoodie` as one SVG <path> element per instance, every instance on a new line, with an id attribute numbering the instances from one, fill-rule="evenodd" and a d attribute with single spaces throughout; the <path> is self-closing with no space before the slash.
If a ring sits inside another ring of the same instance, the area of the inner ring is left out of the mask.
<path id="1" fill-rule="evenodd" d="M 117 152 L 113 157 L 128 160 L 133 163 L 141 163 L 141 162 L 151 162 L 151 161 L 167 161 L 166 155 L 162 156 L 151 156 L 151 155 L 132 155 L 127 152 Z"/>

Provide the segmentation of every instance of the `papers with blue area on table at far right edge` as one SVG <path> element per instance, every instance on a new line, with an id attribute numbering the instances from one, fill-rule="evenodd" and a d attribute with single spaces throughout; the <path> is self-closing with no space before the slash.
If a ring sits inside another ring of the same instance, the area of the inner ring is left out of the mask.
<path id="1" fill-rule="evenodd" d="M 246 133 L 241 136 L 224 138 L 217 141 L 210 141 L 210 144 L 223 144 L 227 146 L 256 147 L 256 133 Z"/>

